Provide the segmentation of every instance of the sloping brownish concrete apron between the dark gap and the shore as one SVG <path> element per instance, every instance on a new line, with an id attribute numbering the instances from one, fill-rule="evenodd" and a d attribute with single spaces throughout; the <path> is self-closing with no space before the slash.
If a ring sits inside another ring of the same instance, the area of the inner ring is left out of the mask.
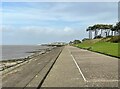
<path id="1" fill-rule="evenodd" d="M 61 50 L 62 47 L 54 48 L 49 53 L 39 55 L 25 65 L 3 75 L 3 89 L 6 89 L 6 87 L 15 87 L 15 89 L 19 87 L 38 87 Z"/>

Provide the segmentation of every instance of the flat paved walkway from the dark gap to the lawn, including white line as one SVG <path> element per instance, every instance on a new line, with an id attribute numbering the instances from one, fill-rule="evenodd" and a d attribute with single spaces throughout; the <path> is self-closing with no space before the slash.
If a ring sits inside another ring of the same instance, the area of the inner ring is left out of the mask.
<path id="1" fill-rule="evenodd" d="M 118 59 L 66 46 L 42 87 L 118 87 Z"/>

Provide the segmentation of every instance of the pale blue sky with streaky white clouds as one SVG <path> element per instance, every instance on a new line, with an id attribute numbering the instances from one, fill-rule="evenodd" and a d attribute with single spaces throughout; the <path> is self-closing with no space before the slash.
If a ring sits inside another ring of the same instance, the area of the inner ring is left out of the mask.
<path id="1" fill-rule="evenodd" d="M 3 2 L 2 43 L 5 45 L 69 42 L 88 38 L 94 24 L 115 24 L 117 2 Z"/>

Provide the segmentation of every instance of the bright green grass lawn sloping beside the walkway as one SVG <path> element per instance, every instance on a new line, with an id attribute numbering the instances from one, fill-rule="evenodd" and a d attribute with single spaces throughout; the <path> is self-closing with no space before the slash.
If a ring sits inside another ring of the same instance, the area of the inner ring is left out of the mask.
<path id="1" fill-rule="evenodd" d="M 120 57 L 118 54 L 118 45 L 120 46 L 120 43 L 111 43 L 111 42 L 83 42 L 81 44 L 75 44 L 74 46 L 79 48 L 88 49 L 91 51 L 96 51 L 104 54 L 108 54 L 111 56 Z"/>

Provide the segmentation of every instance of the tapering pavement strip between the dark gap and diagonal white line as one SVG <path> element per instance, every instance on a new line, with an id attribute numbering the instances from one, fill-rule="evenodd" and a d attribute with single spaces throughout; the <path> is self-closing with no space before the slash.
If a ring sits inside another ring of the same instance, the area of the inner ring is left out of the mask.
<path id="1" fill-rule="evenodd" d="M 42 87 L 82 87 L 85 81 L 66 46 L 45 79 Z"/>

